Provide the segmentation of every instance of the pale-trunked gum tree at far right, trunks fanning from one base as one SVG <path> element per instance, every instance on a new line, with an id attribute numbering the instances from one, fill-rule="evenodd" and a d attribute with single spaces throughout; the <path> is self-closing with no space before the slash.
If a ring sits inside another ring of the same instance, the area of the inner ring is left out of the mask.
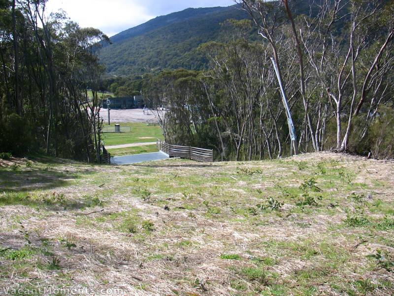
<path id="1" fill-rule="evenodd" d="M 324 0 L 300 30 L 311 69 L 336 118 L 336 149 L 349 146 L 354 116 L 370 102 L 363 133 L 391 92 L 393 4 L 377 0 Z M 326 106 L 327 108 L 327 106 Z M 345 125 L 345 129 L 343 129 Z"/>

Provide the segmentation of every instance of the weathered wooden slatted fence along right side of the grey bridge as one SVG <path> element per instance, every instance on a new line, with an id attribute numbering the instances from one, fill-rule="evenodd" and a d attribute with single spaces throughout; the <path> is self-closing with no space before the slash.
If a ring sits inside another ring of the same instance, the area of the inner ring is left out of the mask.
<path id="1" fill-rule="evenodd" d="M 200 162 L 213 162 L 213 150 L 190 146 L 169 145 L 161 140 L 157 141 L 159 150 L 168 154 L 169 157 L 193 159 Z"/>

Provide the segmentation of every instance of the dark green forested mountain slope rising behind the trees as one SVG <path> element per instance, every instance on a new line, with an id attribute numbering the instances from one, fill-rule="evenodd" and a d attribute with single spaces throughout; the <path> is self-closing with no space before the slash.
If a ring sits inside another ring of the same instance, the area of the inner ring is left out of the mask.
<path id="1" fill-rule="evenodd" d="M 227 19 L 244 19 L 248 14 L 237 8 L 188 8 L 160 16 L 111 37 L 113 44 L 100 52 L 107 73 L 143 74 L 161 69 L 201 70 L 204 55 L 197 50 L 220 35 Z"/>

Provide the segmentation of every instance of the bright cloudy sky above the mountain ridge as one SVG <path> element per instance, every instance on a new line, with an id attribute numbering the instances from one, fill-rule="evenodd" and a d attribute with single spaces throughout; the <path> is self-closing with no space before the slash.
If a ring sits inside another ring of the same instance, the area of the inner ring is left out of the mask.
<path id="1" fill-rule="evenodd" d="M 233 4 L 234 0 L 49 0 L 46 10 L 63 9 L 81 27 L 94 27 L 111 37 L 157 16 L 189 7 Z"/>

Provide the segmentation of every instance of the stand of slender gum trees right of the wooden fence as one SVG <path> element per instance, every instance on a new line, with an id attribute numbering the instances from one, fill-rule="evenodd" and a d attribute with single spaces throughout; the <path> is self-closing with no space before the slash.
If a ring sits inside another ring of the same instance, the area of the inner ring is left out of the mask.
<path id="1" fill-rule="evenodd" d="M 251 21 L 226 21 L 227 40 L 200 47 L 208 71 L 147 79 L 145 98 L 169 108 L 161 118 L 167 142 L 211 147 L 218 159 L 327 149 L 394 157 L 393 1 L 311 0 L 309 14 L 297 16 L 297 1 L 239 4 Z"/>

